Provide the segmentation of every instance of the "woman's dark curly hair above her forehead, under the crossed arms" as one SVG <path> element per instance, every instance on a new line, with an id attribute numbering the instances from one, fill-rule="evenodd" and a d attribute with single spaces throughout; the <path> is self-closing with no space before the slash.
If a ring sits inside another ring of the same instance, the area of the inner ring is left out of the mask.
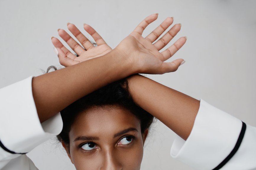
<path id="1" fill-rule="evenodd" d="M 128 91 L 127 79 L 113 82 L 90 93 L 61 110 L 63 129 L 57 136 L 60 142 L 69 145 L 69 131 L 76 116 L 92 107 L 111 107 L 113 105 L 129 110 L 140 121 L 141 132 L 144 133 L 153 122 L 153 115 L 136 105 Z"/>

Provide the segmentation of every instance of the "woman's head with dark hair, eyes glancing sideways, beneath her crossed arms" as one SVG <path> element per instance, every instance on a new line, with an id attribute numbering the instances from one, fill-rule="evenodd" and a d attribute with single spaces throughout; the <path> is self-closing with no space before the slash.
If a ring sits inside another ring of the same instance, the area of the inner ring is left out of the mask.
<path id="1" fill-rule="evenodd" d="M 58 139 L 77 170 L 140 169 L 153 116 L 133 102 L 126 79 L 77 100 L 61 117 Z"/>

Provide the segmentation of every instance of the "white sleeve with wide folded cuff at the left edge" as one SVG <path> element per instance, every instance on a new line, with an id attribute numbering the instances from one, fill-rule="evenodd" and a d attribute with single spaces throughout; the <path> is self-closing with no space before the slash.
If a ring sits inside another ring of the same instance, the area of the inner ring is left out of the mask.
<path id="1" fill-rule="evenodd" d="M 32 78 L 0 89 L 0 169 L 6 169 L 10 162 L 27 169 L 25 167 L 33 163 L 24 154 L 62 130 L 60 113 L 40 123 L 32 94 Z"/>

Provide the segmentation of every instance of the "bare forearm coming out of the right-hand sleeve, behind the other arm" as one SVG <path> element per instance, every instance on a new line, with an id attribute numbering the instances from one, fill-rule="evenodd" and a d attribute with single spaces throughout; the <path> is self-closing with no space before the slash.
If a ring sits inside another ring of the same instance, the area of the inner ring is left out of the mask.
<path id="1" fill-rule="evenodd" d="M 199 100 L 141 75 L 130 77 L 128 82 L 135 103 L 187 139 L 199 109 Z"/>

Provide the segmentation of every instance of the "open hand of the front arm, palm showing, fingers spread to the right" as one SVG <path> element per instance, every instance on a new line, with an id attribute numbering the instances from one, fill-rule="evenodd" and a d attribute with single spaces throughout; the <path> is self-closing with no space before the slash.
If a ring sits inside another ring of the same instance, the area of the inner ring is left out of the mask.
<path id="1" fill-rule="evenodd" d="M 183 59 L 176 59 L 172 62 L 164 62 L 172 57 L 186 42 L 187 37 L 179 38 L 173 45 L 163 52 L 159 52 L 170 40 L 179 32 L 181 24 L 175 24 L 163 37 L 152 44 L 161 34 L 173 23 L 173 18 L 169 17 L 163 21 L 147 37 L 142 37 L 144 29 L 158 17 L 152 14 L 145 18 L 135 30 L 115 48 L 120 55 L 129 57 L 132 67 L 139 73 L 163 74 L 174 72 L 184 63 Z"/>

